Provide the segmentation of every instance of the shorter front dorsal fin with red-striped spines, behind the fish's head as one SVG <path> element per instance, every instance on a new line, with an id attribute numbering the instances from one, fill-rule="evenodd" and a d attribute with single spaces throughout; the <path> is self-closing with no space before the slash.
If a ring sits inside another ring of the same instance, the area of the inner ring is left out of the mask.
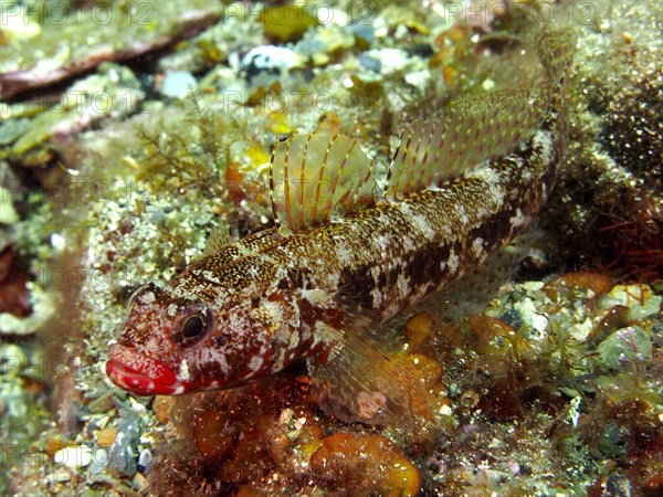
<path id="1" fill-rule="evenodd" d="M 295 134 L 277 141 L 270 165 L 274 219 L 297 232 L 375 203 L 371 169 L 358 141 L 344 135 Z"/>

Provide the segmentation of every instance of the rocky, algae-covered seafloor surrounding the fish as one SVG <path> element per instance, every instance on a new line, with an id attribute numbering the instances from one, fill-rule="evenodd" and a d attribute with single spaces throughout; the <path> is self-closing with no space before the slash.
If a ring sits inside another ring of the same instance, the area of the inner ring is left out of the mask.
<path id="1" fill-rule="evenodd" d="M 0 494 L 663 495 L 660 2 L 2 0 L 0 15 Z M 434 423 L 338 421 L 304 368 L 177 399 L 106 379 L 136 288 L 272 225 L 277 139 L 340 131 L 385 171 L 410 120 L 527 81 L 541 24 L 578 43 L 536 234 L 498 278 L 392 324 Z"/>

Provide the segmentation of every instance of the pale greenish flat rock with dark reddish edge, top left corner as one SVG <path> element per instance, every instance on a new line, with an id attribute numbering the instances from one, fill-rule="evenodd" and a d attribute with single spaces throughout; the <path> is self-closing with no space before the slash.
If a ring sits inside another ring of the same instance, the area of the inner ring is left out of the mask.
<path id="1" fill-rule="evenodd" d="M 35 25 L 40 30 L 30 33 L 30 43 L 0 44 L 0 95 L 11 98 L 84 73 L 105 61 L 133 59 L 161 49 L 203 30 L 221 17 L 221 4 L 191 0 L 97 4 L 91 10 L 63 13 L 62 22 Z M 7 18 L 19 19 L 25 32 L 27 15 Z"/>

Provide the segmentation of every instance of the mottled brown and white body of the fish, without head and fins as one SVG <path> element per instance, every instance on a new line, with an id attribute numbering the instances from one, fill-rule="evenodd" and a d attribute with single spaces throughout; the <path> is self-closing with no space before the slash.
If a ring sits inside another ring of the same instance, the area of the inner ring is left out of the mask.
<path id="1" fill-rule="evenodd" d="M 498 163 L 401 202 L 307 233 L 250 236 L 191 266 L 175 286 L 210 302 L 320 289 L 390 318 L 481 264 L 527 225 L 557 175 L 552 134 L 540 130 Z"/>

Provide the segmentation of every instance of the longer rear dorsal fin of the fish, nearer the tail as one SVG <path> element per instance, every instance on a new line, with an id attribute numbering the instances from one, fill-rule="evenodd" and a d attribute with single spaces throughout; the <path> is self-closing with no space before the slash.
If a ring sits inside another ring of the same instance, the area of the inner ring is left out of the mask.
<path id="1" fill-rule="evenodd" d="M 439 119 L 414 121 L 401 135 L 385 198 L 401 200 L 508 154 L 540 126 L 549 112 L 545 99 L 525 87 L 494 92 L 455 103 Z"/>

